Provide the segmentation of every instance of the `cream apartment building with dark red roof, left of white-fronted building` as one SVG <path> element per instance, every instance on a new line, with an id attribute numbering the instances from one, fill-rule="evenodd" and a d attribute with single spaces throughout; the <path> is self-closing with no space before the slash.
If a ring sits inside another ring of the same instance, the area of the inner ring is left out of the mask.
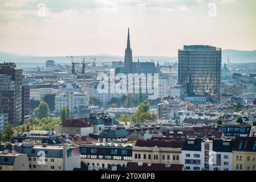
<path id="1" fill-rule="evenodd" d="M 132 150 L 132 161 L 181 164 L 182 145 L 182 141 L 137 140 Z"/>

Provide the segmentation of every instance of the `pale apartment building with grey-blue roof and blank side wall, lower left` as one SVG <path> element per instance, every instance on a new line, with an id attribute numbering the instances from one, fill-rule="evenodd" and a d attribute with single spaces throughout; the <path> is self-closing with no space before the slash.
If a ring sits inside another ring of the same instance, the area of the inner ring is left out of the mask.
<path id="1" fill-rule="evenodd" d="M 24 140 L 17 146 L 17 151 L 27 155 L 30 171 L 73 171 L 81 167 L 79 147 L 69 144 L 34 145 L 33 140 Z"/>

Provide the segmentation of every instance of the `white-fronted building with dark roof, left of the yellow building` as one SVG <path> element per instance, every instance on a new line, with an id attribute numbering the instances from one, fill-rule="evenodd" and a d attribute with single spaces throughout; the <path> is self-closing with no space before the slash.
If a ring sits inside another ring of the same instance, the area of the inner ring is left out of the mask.
<path id="1" fill-rule="evenodd" d="M 186 139 L 181 151 L 186 171 L 232 171 L 233 140 Z"/>

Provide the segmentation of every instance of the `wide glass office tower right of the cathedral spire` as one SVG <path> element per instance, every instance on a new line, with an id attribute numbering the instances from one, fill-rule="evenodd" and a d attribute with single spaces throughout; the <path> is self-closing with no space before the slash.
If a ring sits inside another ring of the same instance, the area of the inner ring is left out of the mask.
<path id="1" fill-rule="evenodd" d="M 184 46 L 178 50 L 178 83 L 189 97 L 221 99 L 221 48 Z"/>

